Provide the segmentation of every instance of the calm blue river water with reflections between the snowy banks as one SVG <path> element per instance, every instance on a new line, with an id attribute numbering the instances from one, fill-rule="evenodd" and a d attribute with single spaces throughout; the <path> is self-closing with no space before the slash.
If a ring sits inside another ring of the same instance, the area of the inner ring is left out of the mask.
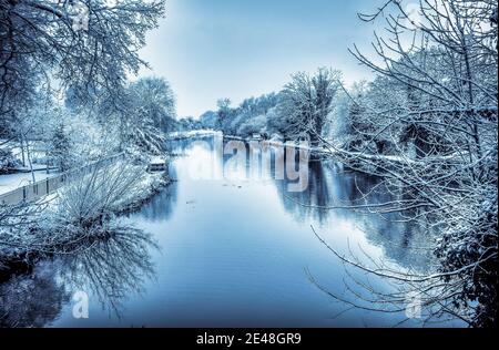
<path id="1" fill-rule="evenodd" d="M 310 158 L 306 189 L 291 193 L 291 181 L 266 176 L 272 169 L 249 176 L 242 176 L 244 166 L 223 171 L 228 158 L 215 145 L 210 137 L 171 145 L 176 181 L 123 218 L 135 236 L 123 230 L 113 241 L 41 261 L 0 285 L 0 325 L 391 327 L 405 319 L 403 311 L 337 300 L 373 297 L 360 285 L 380 292 L 394 287 L 345 266 L 312 229 L 366 264 L 426 269 L 425 233 L 390 217 L 318 208 L 358 203 L 376 179 Z M 200 178 L 203 169 L 223 176 Z M 75 318 L 85 296 L 88 318 Z"/>

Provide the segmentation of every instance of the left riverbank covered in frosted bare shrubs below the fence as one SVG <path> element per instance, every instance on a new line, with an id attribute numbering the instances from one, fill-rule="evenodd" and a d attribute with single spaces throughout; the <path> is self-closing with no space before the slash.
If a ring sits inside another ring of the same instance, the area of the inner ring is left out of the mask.
<path id="1" fill-rule="evenodd" d="M 123 171 L 123 164 L 113 165 L 115 174 Z M 93 244 L 108 234 L 110 223 L 120 216 L 140 209 L 162 188 L 171 183 L 167 172 L 147 173 L 143 166 L 133 166 L 139 174 L 134 182 L 126 183 L 119 177 L 112 178 L 113 168 L 103 168 L 108 177 L 92 174 L 83 179 L 45 196 L 34 203 L 1 208 L 0 217 L 0 279 L 20 269 L 29 269 L 37 260 L 58 254 L 71 254 Z M 126 169 L 125 169 L 126 171 Z M 96 185 L 92 182 L 98 179 Z M 105 179 L 109 182 L 104 183 Z M 120 185 L 119 182 L 123 182 Z M 88 182 L 90 185 L 88 185 Z M 82 186 L 82 183 L 83 186 Z M 72 187 L 71 187 L 72 186 Z M 85 187 L 86 186 L 86 187 Z M 109 186 L 109 191 L 106 191 Z M 121 187 L 120 187 L 121 186 Z M 90 191 L 89 191 L 90 188 Z M 93 188 L 93 189 L 92 189 Z M 112 191 L 116 191 L 112 193 Z M 75 192 L 91 195 L 81 198 Z M 96 191 L 92 195 L 91 191 Z M 99 197 L 101 196 L 101 197 Z M 96 198 L 96 199 L 95 199 Z M 104 202 L 105 203 L 102 203 Z M 100 203 L 96 203 L 100 202 Z M 89 208 L 95 212 L 89 212 Z M 78 207 L 80 212 L 74 212 Z M 83 212 L 84 210 L 84 212 Z M 83 213 L 90 213 L 84 216 Z"/>

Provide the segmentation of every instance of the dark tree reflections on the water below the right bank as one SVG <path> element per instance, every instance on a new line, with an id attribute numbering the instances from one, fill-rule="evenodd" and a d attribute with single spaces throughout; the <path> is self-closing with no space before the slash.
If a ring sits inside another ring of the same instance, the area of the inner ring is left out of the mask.
<path id="1" fill-rule="evenodd" d="M 355 223 L 369 241 L 383 247 L 385 255 L 395 262 L 420 270 L 430 267 L 432 256 L 426 248 L 428 229 L 405 222 L 399 213 L 379 215 L 347 209 L 366 202 L 384 203 L 393 198 L 395 194 L 378 187 L 379 179 L 318 157 L 310 157 L 308 168 L 308 187 L 304 192 L 287 192 L 287 179 L 275 182 L 283 207 L 294 219 L 304 223 L 313 218 L 325 230 L 332 227 L 332 220 L 346 219 Z M 335 206 L 345 209 L 333 209 Z"/>

